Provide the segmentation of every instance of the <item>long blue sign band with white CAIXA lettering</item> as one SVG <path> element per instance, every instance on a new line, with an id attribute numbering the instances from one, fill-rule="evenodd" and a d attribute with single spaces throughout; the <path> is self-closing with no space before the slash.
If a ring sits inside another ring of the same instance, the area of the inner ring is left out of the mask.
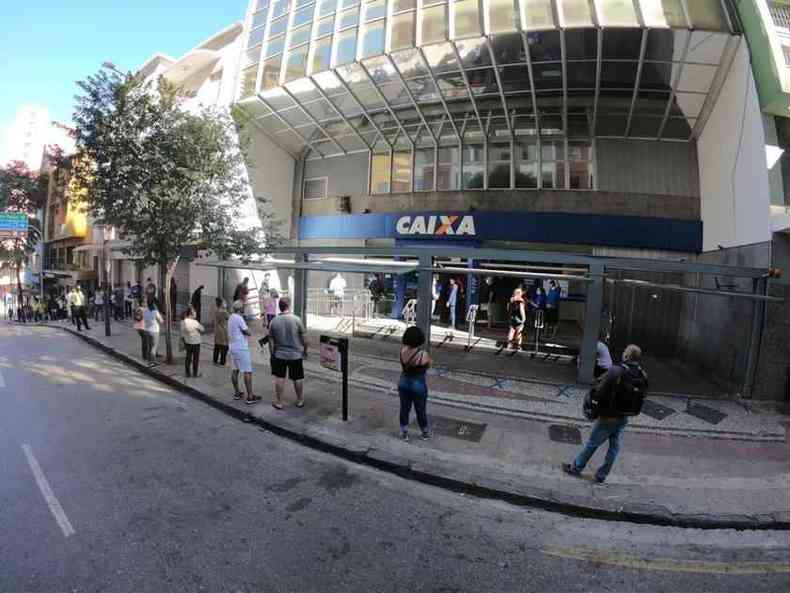
<path id="1" fill-rule="evenodd" d="M 299 238 L 521 241 L 698 252 L 702 222 L 560 212 L 389 212 L 303 216 Z"/>

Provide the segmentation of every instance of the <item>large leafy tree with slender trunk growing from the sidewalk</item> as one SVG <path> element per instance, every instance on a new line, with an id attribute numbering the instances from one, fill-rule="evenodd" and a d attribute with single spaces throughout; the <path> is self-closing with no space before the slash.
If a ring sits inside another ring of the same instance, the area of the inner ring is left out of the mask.
<path id="1" fill-rule="evenodd" d="M 238 224 L 252 196 L 230 114 L 187 111 L 179 90 L 164 79 L 146 83 L 111 64 L 77 84 L 83 94 L 74 113 L 75 175 L 86 188 L 87 207 L 96 222 L 114 226 L 129 241 L 127 255 L 159 266 L 165 314 L 171 311 L 167 288 L 185 246 L 248 258 L 271 242 L 273 221 L 263 199 L 257 199 L 261 224 Z"/>

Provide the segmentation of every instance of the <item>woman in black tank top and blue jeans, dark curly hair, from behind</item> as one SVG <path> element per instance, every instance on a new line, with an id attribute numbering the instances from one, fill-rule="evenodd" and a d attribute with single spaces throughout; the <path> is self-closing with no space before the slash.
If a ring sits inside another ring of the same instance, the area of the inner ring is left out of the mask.
<path id="1" fill-rule="evenodd" d="M 430 355 L 423 350 L 425 334 L 417 326 L 411 326 L 403 333 L 403 346 L 400 349 L 401 376 L 398 382 L 400 395 L 400 436 L 409 440 L 409 415 L 411 407 L 417 413 L 417 423 L 422 431 L 421 438 L 431 438 L 426 407 L 428 403 L 428 384 L 425 373 L 431 366 Z"/>

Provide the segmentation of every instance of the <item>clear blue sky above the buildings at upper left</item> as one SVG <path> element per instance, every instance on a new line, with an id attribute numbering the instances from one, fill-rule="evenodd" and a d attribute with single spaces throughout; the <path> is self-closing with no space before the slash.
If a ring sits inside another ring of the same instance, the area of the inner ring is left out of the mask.
<path id="1" fill-rule="evenodd" d="M 71 121 L 75 81 L 109 60 L 179 56 L 244 18 L 247 0 L 0 0 L 0 137 L 33 103 Z"/>

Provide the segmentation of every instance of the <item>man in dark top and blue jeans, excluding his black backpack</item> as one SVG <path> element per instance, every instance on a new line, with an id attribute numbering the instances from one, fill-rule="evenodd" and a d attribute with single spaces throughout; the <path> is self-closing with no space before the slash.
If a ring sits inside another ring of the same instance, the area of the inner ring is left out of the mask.
<path id="1" fill-rule="evenodd" d="M 618 390 L 627 381 L 632 382 L 631 377 L 637 377 L 640 383 L 641 392 L 647 390 L 647 373 L 642 369 L 639 361 L 642 359 L 642 350 L 639 346 L 630 344 L 623 352 L 623 364 L 612 366 L 601 379 L 596 387 L 596 399 L 598 400 L 598 419 L 593 425 L 590 438 L 584 448 L 571 463 L 563 463 L 562 471 L 566 474 L 580 477 L 590 458 L 598 450 L 598 447 L 609 441 L 609 449 L 606 451 L 606 458 L 603 465 L 595 472 L 595 481 L 602 484 L 609 476 L 620 447 L 623 442 L 623 431 L 628 425 L 628 416 L 623 410 L 618 409 L 617 395 Z M 628 375 L 628 380 L 626 380 Z"/>

